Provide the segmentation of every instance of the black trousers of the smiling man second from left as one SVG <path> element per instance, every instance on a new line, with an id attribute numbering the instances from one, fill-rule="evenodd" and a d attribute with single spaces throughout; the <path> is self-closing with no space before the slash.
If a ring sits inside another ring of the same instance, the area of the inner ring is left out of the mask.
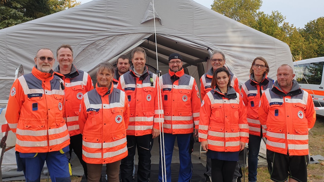
<path id="1" fill-rule="evenodd" d="M 84 175 L 86 176 L 86 179 L 87 179 L 87 177 L 88 177 L 87 164 L 82 159 L 82 134 L 70 136 L 69 147 L 70 147 L 70 156 L 72 154 L 72 149 L 73 149 L 75 155 L 78 157 L 78 159 L 83 167 Z M 70 161 L 70 159 L 69 159 L 69 161 Z"/>

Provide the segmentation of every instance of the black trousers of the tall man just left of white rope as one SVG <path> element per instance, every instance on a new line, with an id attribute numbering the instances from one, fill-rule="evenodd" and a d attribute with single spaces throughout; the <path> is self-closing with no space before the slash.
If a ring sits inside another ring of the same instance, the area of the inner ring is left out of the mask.
<path id="1" fill-rule="evenodd" d="M 121 181 L 132 182 L 134 155 L 137 146 L 137 182 L 148 182 L 151 175 L 152 134 L 143 136 L 127 135 L 128 155 L 121 160 Z"/>

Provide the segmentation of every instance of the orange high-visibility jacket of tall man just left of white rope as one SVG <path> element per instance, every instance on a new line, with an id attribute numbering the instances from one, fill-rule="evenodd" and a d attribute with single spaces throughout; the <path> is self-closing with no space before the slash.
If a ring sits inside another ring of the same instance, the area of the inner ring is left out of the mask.
<path id="1" fill-rule="evenodd" d="M 152 134 L 153 128 L 159 130 L 162 127 L 163 106 L 157 83 L 156 74 L 148 71 L 146 66 L 140 77 L 133 72 L 133 66 L 129 72 L 120 76 L 117 88 L 126 92 L 130 105 L 127 135 Z"/>

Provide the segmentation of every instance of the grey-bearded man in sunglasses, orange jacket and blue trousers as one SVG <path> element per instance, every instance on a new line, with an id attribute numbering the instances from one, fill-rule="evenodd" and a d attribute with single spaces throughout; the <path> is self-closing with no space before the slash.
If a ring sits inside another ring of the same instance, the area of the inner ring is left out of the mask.
<path id="1" fill-rule="evenodd" d="M 37 51 L 34 61 L 31 73 L 15 80 L 7 105 L 6 120 L 17 136 L 17 171 L 26 181 L 40 181 L 46 161 L 53 182 L 70 182 L 63 80 L 54 75 L 50 49 Z"/>

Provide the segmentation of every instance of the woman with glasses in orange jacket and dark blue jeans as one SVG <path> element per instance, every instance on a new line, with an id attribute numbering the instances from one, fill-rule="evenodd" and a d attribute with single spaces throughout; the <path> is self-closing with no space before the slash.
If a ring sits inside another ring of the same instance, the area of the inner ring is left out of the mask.
<path id="1" fill-rule="evenodd" d="M 260 142 L 266 131 L 261 127 L 258 111 L 260 98 L 263 92 L 272 88 L 274 80 L 267 77 L 269 65 L 263 57 L 253 60 L 250 68 L 250 79 L 242 85 L 241 97 L 247 108 L 247 118 L 249 123 L 249 182 L 257 181 L 258 156 Z M 263 135 L 262 135 L 263 134 Z"/>

